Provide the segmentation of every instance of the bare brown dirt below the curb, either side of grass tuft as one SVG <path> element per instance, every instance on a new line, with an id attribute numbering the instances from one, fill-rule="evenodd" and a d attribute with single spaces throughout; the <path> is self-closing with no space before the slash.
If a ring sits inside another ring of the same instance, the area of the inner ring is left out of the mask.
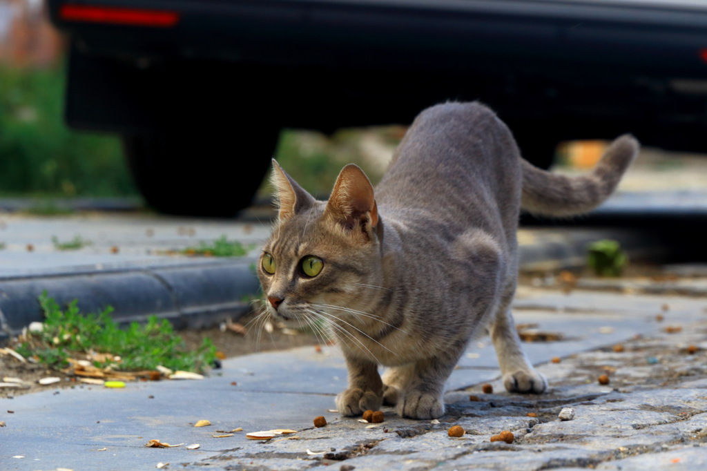
<path id="1" fill-rule="evenodd" d="M 248 322 L 253 317 L 254 315 L 252 314 L 247 315 L 240 320 L 240 323 L 248 325 Z M 211 339 L 211 342 L 216 345 L 216 349 L 225 358 L 257 353 L 259 351 L 284 350 L 319 344 L 315 337 L 296 331 L 274 329 L 272 332 L 265 332 L 264 330 L 259 332 L 259 329 L 254 327 L 255 324 L 256 322 L 252 322 L 247 328 L 245 335 L 240 335 L 230 330 L 222 331 L 218 327 L 204 330 L 183 330 L 177 333 L 182 337 L 189 349 L 197 349 L 205 338 Z M 76 378 L 61 371 L 52 371 L 45 366 L 30 362 L 23 363 L 6 354 L 0 354 L 0 371 L 2 372 L 0 383 L 4 377 L 10 377 L 19 378 L 28 385 L 28 388 L 0 388 L 0 397 L 13 397 L 42 390 L 56 390 L 57 388 L 71 388 L 80 384 Z M 51 385 L 40 385 L 37 383 L 37 380 L 48 376 L 56 376 L 61 378 L 61 380 Z"/>

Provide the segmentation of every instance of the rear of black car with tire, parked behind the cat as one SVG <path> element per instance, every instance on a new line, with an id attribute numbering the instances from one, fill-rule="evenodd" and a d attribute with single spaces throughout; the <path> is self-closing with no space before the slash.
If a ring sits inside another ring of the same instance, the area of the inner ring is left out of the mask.
<path id="1" fill-rule="evenodd" d="M 231 216 L 283 127 L 409 123 L 481 100 L 547 166 L 632 132 L 703 151 L 699 0 L 47 0 L 70 40 L 66 120 L 116 132 L 147 202 Z"/>

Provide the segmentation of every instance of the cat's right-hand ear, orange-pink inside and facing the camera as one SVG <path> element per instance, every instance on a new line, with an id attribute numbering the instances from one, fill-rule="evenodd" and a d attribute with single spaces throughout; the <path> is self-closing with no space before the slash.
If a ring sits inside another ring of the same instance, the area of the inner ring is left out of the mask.
<path id="1" fill-rule="evenodd" d="M 364 232 L 378 226 L 378 207 L 373 197 L 373 185 L 361 168 L 350 163 L 339 173 L 326 214 L 346 229 L 360 227 Z"/>

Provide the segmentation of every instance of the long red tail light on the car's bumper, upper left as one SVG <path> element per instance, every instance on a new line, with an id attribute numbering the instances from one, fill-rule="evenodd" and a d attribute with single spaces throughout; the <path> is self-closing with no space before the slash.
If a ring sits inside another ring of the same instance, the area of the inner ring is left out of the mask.
<path id="1" fill-rule="evenodd" d="M 112 23 L 153 28 L 170 28 L 179 22 L 179 14 L 175 11 L 72 4 L 62 6 L 59 10 L 59 18 L 64 21 Z"/>

